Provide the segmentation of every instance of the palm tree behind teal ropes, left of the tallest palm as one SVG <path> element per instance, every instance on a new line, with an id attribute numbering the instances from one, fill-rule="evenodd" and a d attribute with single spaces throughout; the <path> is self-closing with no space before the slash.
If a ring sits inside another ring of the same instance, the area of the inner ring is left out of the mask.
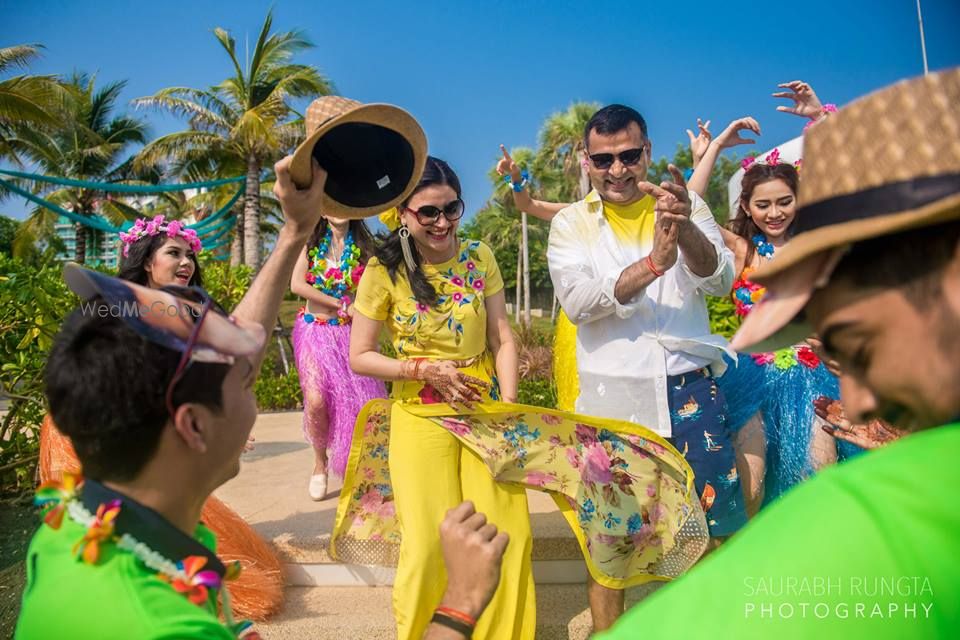
<path id="1" fill-rule="evenodd" d="M 147 139 L 146 124 L 126 115 L 114 116 L 126 82 L 95 88 L 96 77 L 75 73 L 63 86 L 65 98 L 56 111 L 58 124 L 49 130 L 24 128 L 18 148 L 43 173 L 91 182 L 121 182 L 136 177 L 124 155 Z M 99 214 L 114 225 L 138 216 L 122 198 L 86 187 L 41 185 L 36 192 L 74 213 Z M 57 214 L 44 207 L 33 210 L 20 226 L 15 251 L 53 228 Z M 74 224 L 77 262 L 86 261 L 88 227 Z"/>

